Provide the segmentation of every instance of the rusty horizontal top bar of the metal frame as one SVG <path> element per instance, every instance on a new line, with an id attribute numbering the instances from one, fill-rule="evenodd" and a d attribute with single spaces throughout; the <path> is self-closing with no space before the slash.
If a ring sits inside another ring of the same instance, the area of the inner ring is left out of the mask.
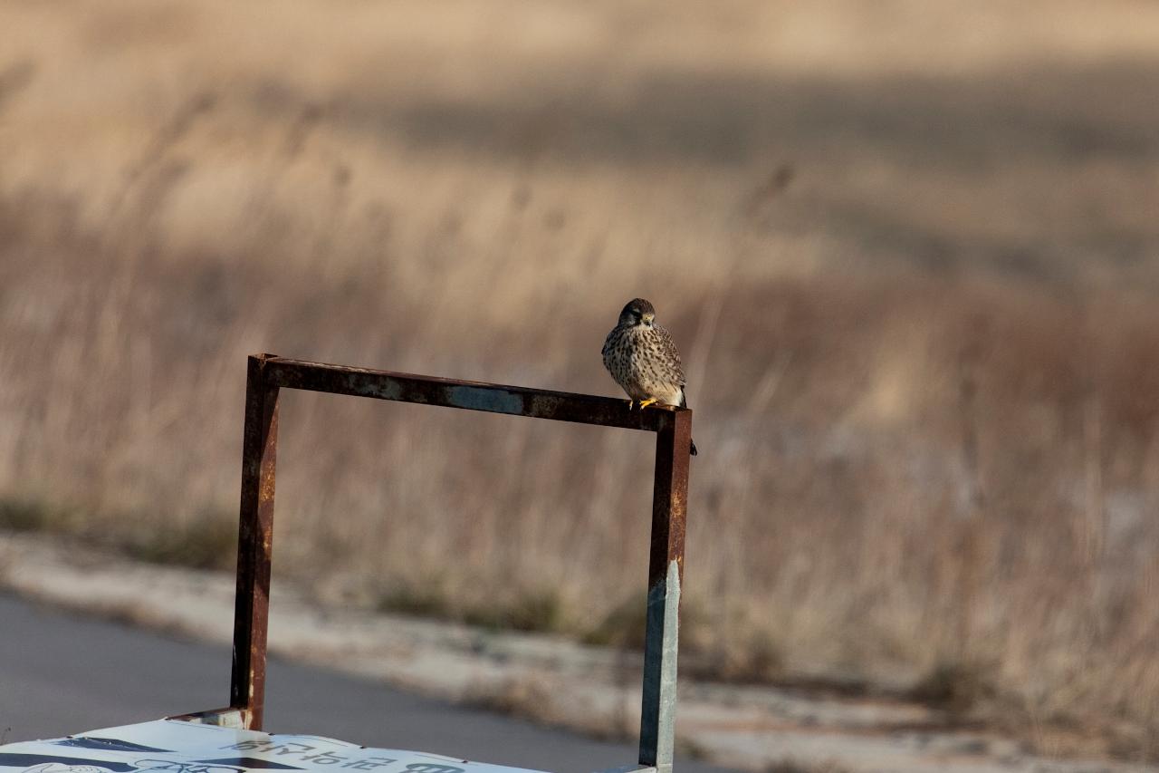
<path id="1" fill-rule="evenodd" d="M 612 397 L 351 368 L 290 360 L 271 354 L 261 356 L 265 363 L 267 384 L 286 389 L 376 397 L 384 400 L 596 424 L 604 427 L 643 429 L 646 432 L 659 432 L 670 426 L 673 413 L 687 411 L 687 409 L 666 405 L 651 406 L 643 411 L 629 411 L 627 399 Z"/>

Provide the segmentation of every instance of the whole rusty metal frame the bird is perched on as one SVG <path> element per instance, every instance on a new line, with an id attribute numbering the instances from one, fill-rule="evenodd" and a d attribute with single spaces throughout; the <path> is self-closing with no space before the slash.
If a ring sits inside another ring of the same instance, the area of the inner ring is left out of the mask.
<path id="1" fill-rule="evenodd" d="M 223 716 L 228 714 L 231 721 L 240 717 L 242 727 L 252 730 L 262 728 L 282 389 L 655 432 L 640 764 L 662 773 L 671 771 L 692 411 L 668 406 L 629 411 L 627 400 L 610 397 L 322 364 L 272 354 L 250 356 L 246 378 L 231 708 L 223 710 Z"/>

